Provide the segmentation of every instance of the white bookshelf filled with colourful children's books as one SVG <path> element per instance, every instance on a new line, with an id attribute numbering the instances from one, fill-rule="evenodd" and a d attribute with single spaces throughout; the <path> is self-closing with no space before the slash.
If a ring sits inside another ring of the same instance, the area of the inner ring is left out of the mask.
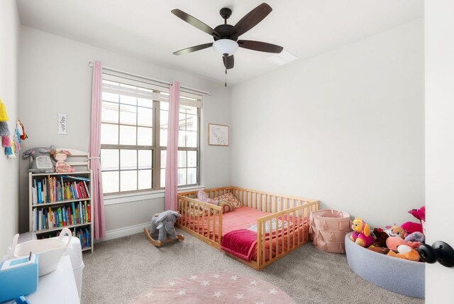
<path id="1" fill-rule="evenodd" d="M 67 227 L 82 251 L 93 252 L 92 171 L 89 153 L 68 148 L 72 173 L 28 173 L 29 229 L 38 239 L 57 237 Z"/>

